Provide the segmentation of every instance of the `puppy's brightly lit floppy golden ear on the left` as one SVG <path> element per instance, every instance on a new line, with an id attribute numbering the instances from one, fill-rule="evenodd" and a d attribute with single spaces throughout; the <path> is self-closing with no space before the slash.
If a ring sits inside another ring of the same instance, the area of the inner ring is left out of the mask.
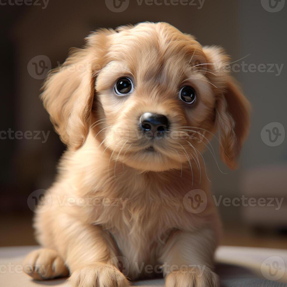
<path id="1" fill-rule="evenodd" d="M 95 93 L 95 76 L 105 64 L 107 36 L 101 30 L 86 38 L 82 49 L 72 49 L 59 68 L 52 70 L 44 85 L 41 99 L 63 143 L 80 148 L 89 132 Z"/>

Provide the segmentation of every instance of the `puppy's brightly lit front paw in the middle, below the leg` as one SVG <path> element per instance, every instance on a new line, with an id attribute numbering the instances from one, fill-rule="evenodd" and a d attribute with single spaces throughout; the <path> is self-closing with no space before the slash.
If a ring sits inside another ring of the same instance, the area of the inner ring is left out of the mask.
<path id="1" fill-rule="evenodd" d="M 129 281 L 114 265 L 97 263 L 78 269 L 72 273 L 73 287 L 127 287 Z"/>

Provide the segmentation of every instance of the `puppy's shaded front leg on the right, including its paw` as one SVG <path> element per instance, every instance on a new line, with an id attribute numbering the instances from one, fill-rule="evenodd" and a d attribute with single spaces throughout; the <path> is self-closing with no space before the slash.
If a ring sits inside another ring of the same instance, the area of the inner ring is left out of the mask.
<path id="1" fill-rule="evenodd" d="M 212 271 L 216 248 L 212 230 L 177 231 L 166 243 L 160 261 L 166 287 L 219 287 Z"/>

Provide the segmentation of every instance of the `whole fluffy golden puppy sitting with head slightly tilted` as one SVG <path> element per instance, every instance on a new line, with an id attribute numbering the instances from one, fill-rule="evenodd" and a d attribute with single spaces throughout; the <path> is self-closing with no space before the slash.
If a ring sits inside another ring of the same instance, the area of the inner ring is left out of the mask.
<path id="1" fill-rule="evenodd" d="M 167 23 L 102 29 L 53 70 L 41 98 L 68 149 L 36 214 L 44 247 L 34 279 L 128 286 L 162 273 L 168 287 L 216 287 L 220 221 L 202 152 L 219 131 L 236 167 L 249 102 L 219 47 Z"/>

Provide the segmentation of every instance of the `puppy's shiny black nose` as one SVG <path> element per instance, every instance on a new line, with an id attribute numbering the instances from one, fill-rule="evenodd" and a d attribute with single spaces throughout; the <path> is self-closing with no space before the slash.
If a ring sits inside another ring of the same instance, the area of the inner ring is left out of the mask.
<path id="1" fill-rule="evenodd" d="M 152 113 L 144 113 L 141 115 L 140 126 L 144 131 L 163 133 L 169 127 L 168 118 L 165 115 L 156 115 Z"/>

